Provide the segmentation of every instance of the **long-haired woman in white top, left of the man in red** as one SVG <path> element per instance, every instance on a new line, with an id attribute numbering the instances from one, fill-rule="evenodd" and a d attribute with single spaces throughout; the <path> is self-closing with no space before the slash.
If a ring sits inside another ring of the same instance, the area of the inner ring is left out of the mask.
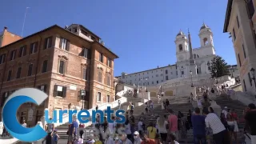
<path id="1" fill-rule="evenodd" d="M 162 143 L 165 144 L 167 141 L 167 130 L 166 126 L 168 125 L 168 122 L 166 122 L 166 118 L 164 118 L 162 115 L 157 120 L 158 124 L 158 133 L 161 135 Z"/>

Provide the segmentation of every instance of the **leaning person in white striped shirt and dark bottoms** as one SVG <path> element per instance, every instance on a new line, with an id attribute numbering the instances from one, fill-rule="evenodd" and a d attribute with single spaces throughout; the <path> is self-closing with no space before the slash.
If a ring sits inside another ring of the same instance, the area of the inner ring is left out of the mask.
<path id="1" fill-rule="evenodd" d="M 209 113 L 208 110 L 203 110 L 203 114 L 206 115 L 206 127 L 213 130 L 214 142 L 218 144 L 230 143 L 230 137 L 225 126 L 221 120 L 214 113 Z"/>

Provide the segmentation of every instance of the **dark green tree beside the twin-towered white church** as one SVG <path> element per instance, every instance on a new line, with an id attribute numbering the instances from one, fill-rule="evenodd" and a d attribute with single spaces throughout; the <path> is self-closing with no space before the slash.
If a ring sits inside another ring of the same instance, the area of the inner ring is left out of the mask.
<path id="1" fill-rule="evenodd" d="M 230 74 L 227 63 L 225 62 L 224 59 L 222 59 L 222 57 L 218 55 L 214 57 L 213 60 L 211 60 L 210 68 L 211 78 L 216 78 L 216 76 L 218 78 Z"/>

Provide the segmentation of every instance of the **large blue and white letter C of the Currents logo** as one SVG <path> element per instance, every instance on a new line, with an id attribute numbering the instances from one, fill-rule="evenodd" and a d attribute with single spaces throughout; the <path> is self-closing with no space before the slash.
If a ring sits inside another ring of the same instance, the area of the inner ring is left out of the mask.
<path id="1" fill-rule="evenodd" d="M 46 98 L 47 94 L 41 90 L 25 88 L 17 90 L 6 99 L 2 108 L 2 121 L 6 130 L 21 141 L 34 142 L 46 137 L 46 131 L 41 126 L 31 128 L 23 127 L 16 118 L 18 107 L 25 102 L 33 102 L 40 105 Z"/>

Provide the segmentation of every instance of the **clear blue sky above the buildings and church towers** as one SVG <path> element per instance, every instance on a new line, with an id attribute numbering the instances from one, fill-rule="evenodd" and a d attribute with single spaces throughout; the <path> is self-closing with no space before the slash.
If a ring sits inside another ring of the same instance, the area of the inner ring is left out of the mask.
<path id="1" fill-rule="evenodd" d="M 236 64 L 228 34 L 223 34 L 227 0 L 79 0 L 14 1 L 3 0 L 0 29 L 23 36 L 48 26 L 79 23 L 106 43 L 120 58 L 114 61 L 114 75 L 148 70 L 176 62 L 175 36 L 190 29 L 192 46 L 199 47 L 202 22 L 214 33 L 216 53 L 229 64 Z"/>

